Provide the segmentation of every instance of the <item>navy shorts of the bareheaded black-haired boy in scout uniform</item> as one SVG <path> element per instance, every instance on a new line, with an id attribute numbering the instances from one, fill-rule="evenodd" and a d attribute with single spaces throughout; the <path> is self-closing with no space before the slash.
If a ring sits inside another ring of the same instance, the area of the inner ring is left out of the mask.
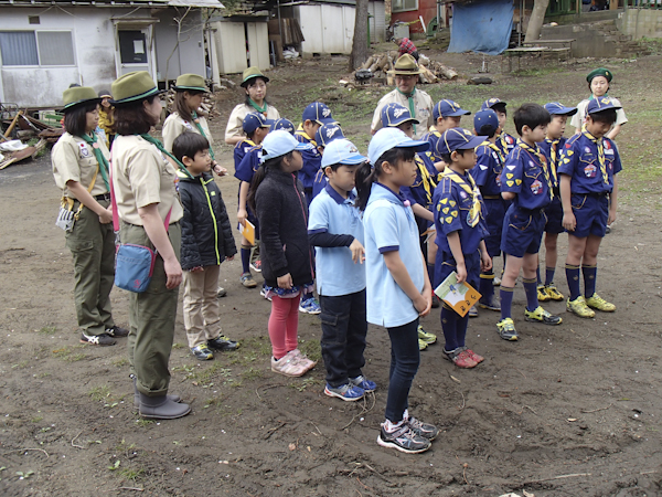
<path id="1" fill-rule="evenodd" d="M 511 205 L 503 220 L 501 251 L 515 257 L 537 254 L 546 223 L 544 210 L 530 211 Z"/>

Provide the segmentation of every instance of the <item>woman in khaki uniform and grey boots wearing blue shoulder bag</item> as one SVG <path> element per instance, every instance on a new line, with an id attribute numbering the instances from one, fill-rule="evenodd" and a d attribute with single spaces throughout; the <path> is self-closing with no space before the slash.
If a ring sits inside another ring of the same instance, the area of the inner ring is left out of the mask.
<path id="1" fill-rule="evenodd" d="M 148 246 L 158 255 L 146 292 L 129 296 L 129 363 L 137 401 L 145 417 L 175 419 L 191 412 L 179 396 L 168 395 L 168 362 L 174 337 L 183 215 L 177 171 L 161 142 L 149 135 L 159 123 L 161 101 L 146 71 L 125 74 L 113 83 L 115 130 L 113 188 L 121 220 L 122 243 Z M 166 224 L 166 225 L 164 225 Z"/>

